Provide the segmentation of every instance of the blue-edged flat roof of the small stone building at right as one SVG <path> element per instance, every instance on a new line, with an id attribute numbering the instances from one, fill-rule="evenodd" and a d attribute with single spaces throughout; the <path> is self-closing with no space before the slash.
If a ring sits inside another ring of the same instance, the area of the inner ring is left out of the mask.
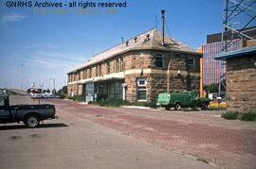
<path id="1" fill-rule="evenodd" d="M 232 58 L 237 58 L 237 57 L 243 57 L 243 56 L 250 55 L 250 54 L 256 54 L 256 46 L 255 45 L 249 46 L 249 47 L 244 47 L 242 49 L 227 52 L 227 53 L 221 53 L 214 59 L 226 60 L 226 59 L 232 59 Z M 256 55 L 255 55 L 255 57 L 256 57 Z"/>

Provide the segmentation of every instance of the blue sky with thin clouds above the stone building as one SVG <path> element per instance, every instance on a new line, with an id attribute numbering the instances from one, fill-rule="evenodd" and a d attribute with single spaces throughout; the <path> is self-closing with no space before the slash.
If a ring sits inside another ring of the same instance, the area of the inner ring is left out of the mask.
<path id="1" fill-rule="evenodd" d="M 115 15 L 35 15 L 33 8 L 5 8 L 5 2 L 1 0 L 0 8 L 0 88 L 44 83 L 52 89 L 49 79 L 55 78 L 60 89 L 67 71 L 121 37 L 151 29 L 161 9 L 166 10 L 171 36 L 194 49 L 208 34 L 222 30 L 222 0 L 127 0 L 127 8 L 117 8 Z"/>

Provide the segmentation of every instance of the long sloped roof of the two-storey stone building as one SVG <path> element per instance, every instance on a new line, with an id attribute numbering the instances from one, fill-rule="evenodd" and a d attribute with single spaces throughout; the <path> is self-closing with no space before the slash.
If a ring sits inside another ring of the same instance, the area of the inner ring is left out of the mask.
<path id="1" fill-rule="evenodd" d="M 149 36 L 149 39 L 147 38 Z M 137 38 L 137 40 L 135 40 Z M 142 34 L 137 35 L 136 37 L 127 40 L 126 42 L 119 43 L 118 45 L 106 49 L 101 53 L 93 56 L 91 59 L 82 63 L 74 70 L 69 71 L 69 73 L 76 72 L 84 67 L 89 65 L 98 63 L 105 59 L 111 59 L 117 55 L 126 53 L 128 51 L 133 50 L 145 50 L 145 49 L 155 49 L 155 50 L 163 50 L 163 51 L 179 51 L 184 53 L 192 53 L 198 54 L 194 49 L 191 47 L 182 44 L 181 42 L 175 41 L 173 38 L 165 36 L 165 45 L 162 45 L 162 34 L 157 29 L 151 29 L 146 31 Z"/>

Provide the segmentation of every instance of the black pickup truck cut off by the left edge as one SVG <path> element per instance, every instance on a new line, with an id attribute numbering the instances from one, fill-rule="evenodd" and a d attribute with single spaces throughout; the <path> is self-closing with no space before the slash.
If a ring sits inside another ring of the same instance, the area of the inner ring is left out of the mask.
<path id="1" fill-rule="evenodd" d="M 23 122 L 27 127 L 38 127 L 40 121 L 55 118 L 54 105 L 9 106 L 9 96 L 0 95 L 0 124 Z"/>

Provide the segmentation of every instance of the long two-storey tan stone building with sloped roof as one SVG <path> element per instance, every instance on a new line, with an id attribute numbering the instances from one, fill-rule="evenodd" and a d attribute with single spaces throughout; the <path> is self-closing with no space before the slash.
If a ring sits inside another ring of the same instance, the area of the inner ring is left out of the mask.
<path id="1" fill-rule="evenodd" d="M 67 73 L 68 96 L 85 101 L 155 101 L 158 93 L 200 89 L 201 54 L 156 29 L 109 48 Z"/>

